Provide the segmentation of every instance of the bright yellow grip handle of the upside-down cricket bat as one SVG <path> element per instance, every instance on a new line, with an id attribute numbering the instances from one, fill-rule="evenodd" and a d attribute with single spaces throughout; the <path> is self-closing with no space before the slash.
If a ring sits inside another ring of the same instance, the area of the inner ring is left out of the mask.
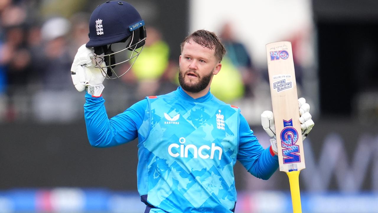
<path id="1" fill-rule="evenodd" d="M 293 203 L 293 213 L 302 213 L 301 194 L 299 193 L 299 172 L 287 172 L 290 183 L 291 202 Z"/>

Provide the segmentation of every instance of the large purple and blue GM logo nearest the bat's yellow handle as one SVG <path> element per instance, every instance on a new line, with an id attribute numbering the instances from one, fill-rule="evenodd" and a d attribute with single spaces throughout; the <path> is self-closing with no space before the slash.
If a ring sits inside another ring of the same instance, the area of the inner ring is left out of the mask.
<path id="1" fill-rule="evenodd" d="M 301 156 L 299 153 L 299 146 L 295 145 L 298 141 L 298 132 L 293 127 L 293 119 L 289 121 L 283 120 L 283 130 L 280 134 L 283 163 L 299 163 Z"/>

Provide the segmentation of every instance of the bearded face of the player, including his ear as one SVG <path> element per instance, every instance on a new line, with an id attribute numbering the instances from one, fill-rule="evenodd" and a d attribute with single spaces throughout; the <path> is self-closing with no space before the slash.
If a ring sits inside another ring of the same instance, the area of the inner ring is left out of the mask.
<path id="1" fill-rule="evenodd" d="M 184 44 L 180 55 L 180 70 L 178 81 L 187 92 L 200 92 L 210 86 L 212 76 L 216 75 L 220 67 L 215 50 L 202 47 L 189 40 Z"/>

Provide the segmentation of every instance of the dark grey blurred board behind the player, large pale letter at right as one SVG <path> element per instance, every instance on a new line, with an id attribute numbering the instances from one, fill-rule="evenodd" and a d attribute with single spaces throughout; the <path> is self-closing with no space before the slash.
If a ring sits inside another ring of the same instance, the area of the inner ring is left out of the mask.
<path id="1" fill-rule="evenodd" d="M 301 190 L 378 190 L 378 127 L 362 127 L 355 122 L 343 121 L 344 128 L 338 128 L 335 121 L 318 121 L 306 139 L 306 166 L 300 179 Z M 266 133 L 259 126 L 251 127 L 255 135 L 264 141 Z M 91 147 L 86 134 L 85 123 L 76 124 L 0 124 L 0 191 L 14 188 L 80 187 L 104 188 L 114 191 L 136 192 L 136 166 L 138 163 L 138 141 L 131 141 L 116 147 Z M 341 137 L 339 144 L 329 141 L 335 135 Z M 327 139 L 328 138 L 328 139 Z M 339 146 L 338 146 L 339 145 Z M 326 149 L 326 148 L 330 149 Z M 368 147 L 364 155 L 358 150 Z M 311 154 L 312 153 L 312 154 Z M 311 159 L 310 156 L 313 156 Z M 338 166 L 346 166 L 344 173 L 338 173 L 328 164 L 333 157 Z M 366 164 L 361 163 L 361 157 Z M 327 164 L 321 164 L 327 158 Z M 364 166 L 366 166 L 365 169 Z M 318 182 L 331 171 L 330 180 Z M 358 171 L 358 172 L 356 172 Z M 238 191 L 259 188 L 264 190 L 289 190 L 287 175 L 276 173 L 268 181 L 260 181 L 237 162 L 234 167 L 235 185 Z M 343 184 L 345 177 L 364 180 L 363 183 Z M 318 179 L 317 179 L 318 177 Z M 248 184 L 253 181 L 253 184 Z M 318 185 L 316 185 L 318 184 Z M 361 184 L 361 185 L 360 185 Z M 353 186 L 351 186 L 353 185 Z M 350 192 L 350 191 L 348 191 Z M 354 191 L 352 191 L 354 192 Z"/>

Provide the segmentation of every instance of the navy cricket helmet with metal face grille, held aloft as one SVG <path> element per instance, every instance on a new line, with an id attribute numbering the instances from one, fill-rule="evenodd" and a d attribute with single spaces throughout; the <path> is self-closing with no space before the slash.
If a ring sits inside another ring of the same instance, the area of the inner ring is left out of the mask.
<path id="1" fill-rule="evenodd" d="M 107 1 L 92 12 L 88 36 L 89 42 L 85 46 L 93 48 L 95 66 L 101 68 L 105 78 L 115 79 L 128 72 L 142 52 L 146 28 L 144 20 L 132 5 L 124 1 Z M 112 51 L 112 44 L 115 43 L 125 45 L 115 52 Z M 116 55 L 121 62 L 116 62 Z M 122 67 L 122 72 L 117 74 L 113 68 L 125 62 L 129 66 Z"/>

